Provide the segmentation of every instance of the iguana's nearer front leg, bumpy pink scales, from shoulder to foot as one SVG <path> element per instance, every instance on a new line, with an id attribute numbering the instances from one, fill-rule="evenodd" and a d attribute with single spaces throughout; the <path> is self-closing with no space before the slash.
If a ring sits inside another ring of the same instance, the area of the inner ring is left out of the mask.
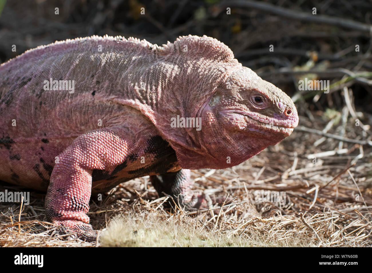
<path id="1" fill-rule="evenodd" d="M 72 233 L 72 238 L 95 241 L 96 232 L 89 224 L 89 200 L 92 191 L 92 170 L 109 173 L 122 164 L 129 146 L 127 130 L 121 127 L 103 128 L 77 137 L 58 158 L 45 197 L 45 214 L 59 225 L 60 234 Z M 131 147 L 132 148 L 132 147 Z"/>

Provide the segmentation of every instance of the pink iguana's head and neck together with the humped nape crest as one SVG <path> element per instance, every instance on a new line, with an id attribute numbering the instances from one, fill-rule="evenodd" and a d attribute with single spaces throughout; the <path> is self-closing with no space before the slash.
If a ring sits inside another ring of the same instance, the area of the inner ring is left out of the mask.
<path id="1" fill-rule="evenodd" d="M 155 122 L 182 168 L 240 164 L 297 126 L 291 98 L 243 67 L 216 39 L 185 36 L 164 48 L 162 54 L 169 57 L 172 71 L 177 67 L 177 74 L 164 91 L 166 102 L 156 110 L 161 113 L 155 114 Z M 196 118 L 199 130 L 171 126 L 177 116 Z"/>

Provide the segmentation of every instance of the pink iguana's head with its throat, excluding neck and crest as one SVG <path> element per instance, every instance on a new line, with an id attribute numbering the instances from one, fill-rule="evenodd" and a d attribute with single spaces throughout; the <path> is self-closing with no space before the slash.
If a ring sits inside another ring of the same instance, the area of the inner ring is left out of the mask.
<path id="1" fill-rule="evenodd" d="M 238 65 L 226 76 L 199 111 L 205 150 L 225 159 L 214 168 L 240 164 L 289 136 L 298 125 L 291 98 L 272 83 Z"/>

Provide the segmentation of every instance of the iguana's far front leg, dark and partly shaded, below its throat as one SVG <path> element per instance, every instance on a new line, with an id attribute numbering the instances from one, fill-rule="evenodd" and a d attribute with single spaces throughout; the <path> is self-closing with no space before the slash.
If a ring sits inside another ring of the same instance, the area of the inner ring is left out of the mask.
<path id="1" fill-rule="evenodd" d="M 191 190 L 194 181 L 190 179 L 189 169 L 180 169 L 177 172 L 167 172 L 162 175 L 151 175 L 150 181 L 159 196 L 164 196 L 163 192 L 173 197 L 176 204 L 189 211 L 195 211 L 207 207 L 204 194 L 194 193 Z M 168 204 L 174 209 L 174 204 Z"/>

